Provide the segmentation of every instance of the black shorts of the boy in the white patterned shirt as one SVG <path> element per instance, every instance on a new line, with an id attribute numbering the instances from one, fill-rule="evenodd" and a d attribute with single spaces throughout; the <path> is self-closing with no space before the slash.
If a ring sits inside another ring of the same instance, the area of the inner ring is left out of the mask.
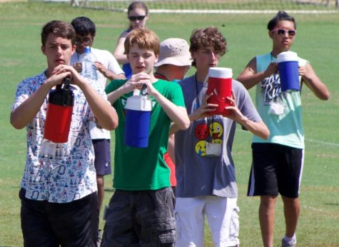
<path id="1" fill-rule="evenodd" d="M 96 247 L 98 196 L 91 193 L 70 203 L 50 203 L 25 197 L 21 188 L 21 230 L 25 247 Z"/>

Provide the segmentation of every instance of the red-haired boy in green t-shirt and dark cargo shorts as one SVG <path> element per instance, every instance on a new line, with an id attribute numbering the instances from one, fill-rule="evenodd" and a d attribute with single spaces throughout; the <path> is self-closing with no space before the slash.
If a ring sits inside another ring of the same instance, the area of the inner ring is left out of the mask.
<path id="1" fill-rule="evenodd" d="M 101 246 L 147 244 L 174 246 L 175 221 L 170 170 L 163 154 L 168 145 L 171 122 L 181 129 L 190 121 L 178 84 L 158 80 L 153 66 L 158 60 L 159 40 L 153 31 L 136 29 L 126 37 L 125 50 L 133 76 L 128 81 L 111 81 L 106 88 L 108 100 L 116 107 L 113 194 L 106 213 Z M 152 101 L 151 124 L 147 148 L 126 146 L 125 109 L 133 89 L 147 86 Z"/>

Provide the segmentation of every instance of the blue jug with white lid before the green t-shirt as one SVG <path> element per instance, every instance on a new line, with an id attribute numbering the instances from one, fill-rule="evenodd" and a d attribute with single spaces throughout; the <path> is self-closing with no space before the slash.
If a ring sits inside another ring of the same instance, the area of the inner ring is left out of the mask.
<path id="1" fill-rule="evenodd" d="M 147 148 L 149 126 L 151 121 L 152 101 L 147 93 L 139 95 L 140 90 L 135 89 L 133 96 L 127 99 L 125 145 L 134 148 Z"/>

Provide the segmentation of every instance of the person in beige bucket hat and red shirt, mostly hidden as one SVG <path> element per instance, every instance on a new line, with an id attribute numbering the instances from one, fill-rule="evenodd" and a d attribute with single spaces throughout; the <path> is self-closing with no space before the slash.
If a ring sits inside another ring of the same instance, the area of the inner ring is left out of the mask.
<path id="1" fill-rule="evenodd" d="M 165 39 L 160 43 L 160 54 L 158 61 L 154 64 L 157 79 L 166 81 L 182 80 L 191 67 L 191 53 L 186 40 L 178 38 Z M 168 138 L 168 149 L 164 155 L 167 166 L 171 169 L 171 186 L 176 192 L 176 166 L 174 157 L 174 135 Z"/>

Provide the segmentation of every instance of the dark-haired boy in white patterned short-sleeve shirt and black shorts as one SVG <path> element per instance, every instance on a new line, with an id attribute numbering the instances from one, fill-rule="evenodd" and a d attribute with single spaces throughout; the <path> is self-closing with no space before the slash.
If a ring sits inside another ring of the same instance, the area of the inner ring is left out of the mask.
<path id="1" fill-rule="evenodd" d="M 21 181 L 24 246 L 96 246 L 98 199 L 89 122 L 113 130 L 116 111 L 96 88 L 70 66 L 76 46 L 71 24 L 50 21 L 41 32 L 47 69 L 21 81 L 11 110 L 14 128 L 26 127 L 27 158 Z M 74 107 L 66 143 L 41 155 L 49 91 L 71 79 Z M 64 153 L 64 154 L 60 154 Z M 67 154 L 66 154 L 67 153 Z"/>

